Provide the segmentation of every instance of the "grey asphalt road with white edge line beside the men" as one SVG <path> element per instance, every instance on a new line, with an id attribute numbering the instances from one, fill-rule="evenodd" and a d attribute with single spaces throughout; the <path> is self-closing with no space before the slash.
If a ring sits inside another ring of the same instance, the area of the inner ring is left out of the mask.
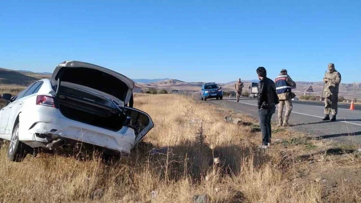
<path id="1" fill-rule="evenodd" d="M 256 99 L 241 98 L 237 103 L 235 98 L 224 97 L 223 100 L 210 99 L 206 102 L 225 105 L 235 111 L 258 118 Z M 324 106 L 321 105 L 315 102 L 294 102 L 289 120 L 292 125 L 291 130 L 300 131 L 312 137 L 332 139 L 347 144 L 361 144 L 361 110 L 349 110 L 349 106 L 340 105 L 338 121 L 325 122 L 322 121 Z M 272 120 L 277 122 L 277 110 L 273 114 Z"/>

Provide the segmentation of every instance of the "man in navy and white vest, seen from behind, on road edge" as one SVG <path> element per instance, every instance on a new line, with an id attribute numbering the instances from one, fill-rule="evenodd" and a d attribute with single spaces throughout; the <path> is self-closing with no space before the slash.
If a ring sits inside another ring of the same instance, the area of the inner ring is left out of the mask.
<path id="1" fill-rule="evenodd" d="M 296 95 L 291 92 L 292 88 L 296 88 L 296 83 L 291 79 L 288 75 L 286 69 L 282 69 L 279 76 L 276 77 L 276 91 L 279 99 L 278 104 L 278 125 L 281 126 L 289 126 L 288 120 L 290 119 L 290 115 L 292 112 L 292 99 L 295 98 Z M 283 107 L 286 104 L 286 113 L 285 120 L 282 118 Z"/>

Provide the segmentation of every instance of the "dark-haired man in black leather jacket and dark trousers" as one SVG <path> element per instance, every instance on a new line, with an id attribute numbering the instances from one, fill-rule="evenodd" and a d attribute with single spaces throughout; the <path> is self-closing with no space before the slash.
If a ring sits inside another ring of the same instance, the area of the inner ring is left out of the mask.
<path id="1" fill-rule="evenodd" d="M 267 78 L 267 71 L 264 67 L 256 70 L 258 78 L 261 80 L 257 84 L 258 114 L 260 118 L 260 127 L 262 131 L 261 148 L 267 149 L 271 143 L 271 119 L 276 111 L 276 104 L 279 103 L 276 85 L 273 80 Z"/>

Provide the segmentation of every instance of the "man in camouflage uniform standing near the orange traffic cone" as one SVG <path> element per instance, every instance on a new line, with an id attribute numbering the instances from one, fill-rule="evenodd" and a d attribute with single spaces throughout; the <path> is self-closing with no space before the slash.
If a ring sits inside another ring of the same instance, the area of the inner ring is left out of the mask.
<path id="1" fill-rule="evenodd" d="M 339 102 L 339 85 L 341 83 L 341 74 L 334 69 L 334 64 L 328 64 L 328 72 L 323 77 L 325 82 L 325 118 L 323 121 L 330 120 L 330 113 L 332 112 L 331 121 L 336 121 L 337 104 Z"/>

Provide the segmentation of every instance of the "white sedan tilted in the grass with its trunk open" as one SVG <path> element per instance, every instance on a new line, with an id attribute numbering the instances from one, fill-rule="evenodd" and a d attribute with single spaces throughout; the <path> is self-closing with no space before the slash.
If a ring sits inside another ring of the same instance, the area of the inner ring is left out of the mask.
<path id="1" fill-rule="evenodd" d="M 112 70 L 78 61 L 59 64 L 0 110 L 0 138 L 8 157 L 21 161 L 26 148 L 75 149 L 130 154 L 153 127 L 149 115 L 127 106 L 134 81 Z M 133 101 L 131 101 L 132 103 Z"/>

